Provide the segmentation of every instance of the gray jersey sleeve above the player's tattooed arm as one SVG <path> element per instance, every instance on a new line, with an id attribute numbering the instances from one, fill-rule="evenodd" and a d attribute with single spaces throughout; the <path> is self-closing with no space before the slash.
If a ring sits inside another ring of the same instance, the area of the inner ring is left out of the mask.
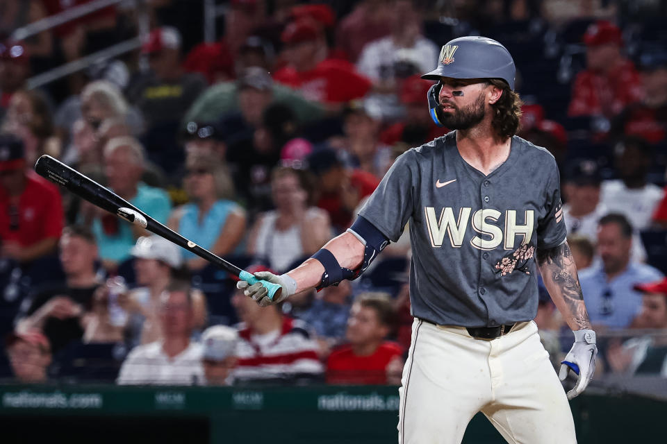
<path id="1" fill-rule="evenodd" d="M 563 204 L 561 203 L 560 175 L 556 160 L 551 158 L 553 167 L 545 189 L 545 216 L 537 224 L 537 248 L 547 249 L 559 246 L 565 241 L 568 230 L 563 221 Z"/>

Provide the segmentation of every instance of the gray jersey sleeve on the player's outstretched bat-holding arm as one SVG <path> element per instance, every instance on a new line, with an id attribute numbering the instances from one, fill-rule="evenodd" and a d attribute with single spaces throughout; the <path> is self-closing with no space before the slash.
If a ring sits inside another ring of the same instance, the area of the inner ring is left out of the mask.
<path id="1" fill-rule="evenodd" d="M 415 207 L 415 189 L 419 183 L 414 151 L 406 151 L 387 171 L 370 195 L 359 215 L 372 223 L 392 242 L 401 237 Z"/>

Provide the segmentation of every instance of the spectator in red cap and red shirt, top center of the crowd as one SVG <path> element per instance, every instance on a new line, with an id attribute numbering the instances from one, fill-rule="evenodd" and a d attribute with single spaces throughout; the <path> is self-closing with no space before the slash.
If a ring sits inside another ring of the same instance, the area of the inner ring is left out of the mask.
<path id="1" fill-rule="evenodd" d="M 327 58 L 327 42 L 317 22 L 299 19 L 288 24 L 281 35 L 288 65 L 274 74 L 274 79 L 299 89 L 306 99 L 329 104 L 359 99 L 372 83 L 358 74 L 345 60 Z"/>

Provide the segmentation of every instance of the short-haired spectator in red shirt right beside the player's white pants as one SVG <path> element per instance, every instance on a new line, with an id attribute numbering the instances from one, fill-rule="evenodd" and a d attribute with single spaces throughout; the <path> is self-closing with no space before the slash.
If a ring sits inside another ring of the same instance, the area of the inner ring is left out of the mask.
<path id="1" fill-rule="evenodd" d="M 403 350 L 397 343 L 385 341 L 395 318 L 388 298 L 360 295 L 347 320 L 349 344 L 331 352 L 327 360 L 327 383 L 400 384 Z"/>

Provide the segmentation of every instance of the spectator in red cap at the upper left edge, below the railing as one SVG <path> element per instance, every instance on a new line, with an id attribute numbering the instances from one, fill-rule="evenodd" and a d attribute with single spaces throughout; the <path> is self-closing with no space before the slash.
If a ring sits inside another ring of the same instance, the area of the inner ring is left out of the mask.
<path id="1" fill-rule="evenodd" d="M 0 42 L 0 117 L 12 95 L 25 87 L 30 75 L 28 51 L 21 42 Z"/>

